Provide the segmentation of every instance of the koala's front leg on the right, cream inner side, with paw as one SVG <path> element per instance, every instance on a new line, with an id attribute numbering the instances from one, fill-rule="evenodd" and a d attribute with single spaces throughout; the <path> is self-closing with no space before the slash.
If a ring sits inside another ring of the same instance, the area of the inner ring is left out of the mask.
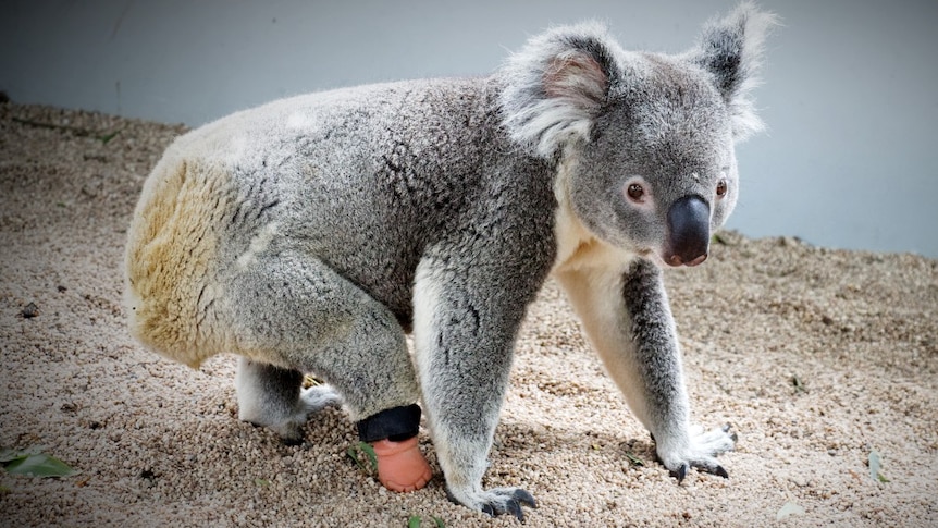
<path id="1" fill-rule="evenodd" d="M 690 467 L 727 477 L 715 456 L 733 447 L 729 427 L 690 426 L 680 346 L 661 270 L 644 259 L 625 272 L 578 269 L 557 275 L 629 407 L 652 433 L 657 455 L 681 480 Z"/>

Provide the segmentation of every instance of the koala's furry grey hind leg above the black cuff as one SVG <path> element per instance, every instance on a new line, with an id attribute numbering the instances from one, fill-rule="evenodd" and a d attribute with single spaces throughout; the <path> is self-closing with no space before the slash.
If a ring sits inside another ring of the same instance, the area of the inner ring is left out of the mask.
<path id="1" fill-rule="evenodd" d="M 289 251 L 259 255 L 227 287 L 232 332 L 244 356 L 291 369 L 242 364 L 257 385 L 313 372 L 342 396 L 354 420 L 417 402 L 404 330 L 384 305 L 323 262 Z"/>

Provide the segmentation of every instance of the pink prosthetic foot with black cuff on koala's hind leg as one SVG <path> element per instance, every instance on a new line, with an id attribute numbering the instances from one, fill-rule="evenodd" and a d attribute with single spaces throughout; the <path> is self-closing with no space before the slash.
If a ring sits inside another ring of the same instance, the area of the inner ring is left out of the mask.
<path id="1" fill-rule="evenodd" d="M 391 491 L 417 491 L 433 476 L 417 444 L 417 404 L 382 410 L 359 421 L 358 438 L 374 447 L 378 480 Z"/>

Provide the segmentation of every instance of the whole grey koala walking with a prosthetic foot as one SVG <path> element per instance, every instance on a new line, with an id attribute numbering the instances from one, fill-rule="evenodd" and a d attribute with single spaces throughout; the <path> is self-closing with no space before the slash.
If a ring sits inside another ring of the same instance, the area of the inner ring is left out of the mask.
<path id="1" fill-rule="evenodd" d="M 530 493 L 481 482 L 519 326 L 553 277 L 664 467 L 727 477 L 736 439 L 691 425 L 661 269 L 703 262 L 733 209 L 775 23 L 743 3 L 680 54 L 556 27 L 491 76 L 304 95 L 189 132 L 129 226 L 129 331 L 194 368 L 240 356 L 239 418 L 286 441 L 326 405 L 392 447 L 425 416 L 449 499 L 522 518 Z M 303 390 L 308 372 L 328 385 Z M 408 450 L 419 475 L 385 486 L 429 480 Z"/>

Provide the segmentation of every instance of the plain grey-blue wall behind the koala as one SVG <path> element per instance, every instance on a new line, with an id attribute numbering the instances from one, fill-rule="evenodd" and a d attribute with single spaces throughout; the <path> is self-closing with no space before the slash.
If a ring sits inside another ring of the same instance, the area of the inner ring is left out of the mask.
<path id="1" fill-rule="evenodd" d="M 198 125 L 270 99 L 477 75 L 554 23 L 680 51 L 733 0 L 4 0 L 0 89 L 16 102 Z M 739 148 L 729 226 L 938 257 L 938 2 L 764 0 L 785 27 Z"/>

